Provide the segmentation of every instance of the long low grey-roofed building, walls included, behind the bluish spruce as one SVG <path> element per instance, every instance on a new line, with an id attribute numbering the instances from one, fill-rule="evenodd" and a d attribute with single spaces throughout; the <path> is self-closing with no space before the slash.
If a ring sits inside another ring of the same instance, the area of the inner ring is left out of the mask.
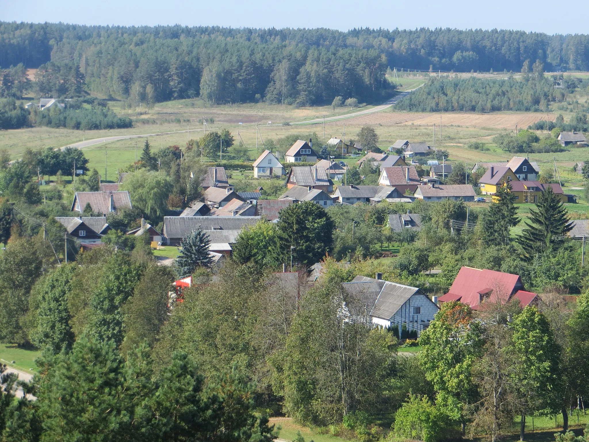
<path id="1" fill-rule="evenodd" d="M 162 233 L 166 243 L 173 246 L 196 229 L 202 229 L 211 243 L 234 244 L 244 226 L 259 220 L 259 216 L 166 216 Z"/>

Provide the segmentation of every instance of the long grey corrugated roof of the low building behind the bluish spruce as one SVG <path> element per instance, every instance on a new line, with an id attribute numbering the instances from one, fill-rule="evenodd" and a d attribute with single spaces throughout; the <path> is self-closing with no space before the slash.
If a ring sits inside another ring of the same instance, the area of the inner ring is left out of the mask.
<path id="1" fill-rule="evenodd" d="M 166 216 L 164 217 L 163 234 L 166 238 L 186 238 L 195 229 L 220 232 L 236 230 L 239 232 L 246 225 L 254 225 L 259 216 Z M 230 242 L 213 240 L 211 242 Z"/>

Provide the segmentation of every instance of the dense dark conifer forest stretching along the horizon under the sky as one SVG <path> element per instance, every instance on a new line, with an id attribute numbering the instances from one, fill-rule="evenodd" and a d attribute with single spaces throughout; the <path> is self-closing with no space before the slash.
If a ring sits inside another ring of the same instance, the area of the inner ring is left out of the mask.
<path id="1" fill-rule="evenodd" d="M 130 107 L 199 96 L 210 103 L 372 102 L 390 93 L 388 67 L 519 72 L 536 60 L 547 70 L 589 70 L 589 36 L 0 22 L 0 67 L 39 68 L 39 95 L 94 93 Z"/>

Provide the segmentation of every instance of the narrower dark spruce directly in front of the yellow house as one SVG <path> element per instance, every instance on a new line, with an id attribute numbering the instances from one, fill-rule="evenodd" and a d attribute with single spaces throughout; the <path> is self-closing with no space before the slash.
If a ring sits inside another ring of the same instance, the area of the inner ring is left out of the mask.
<path id="1" fill-rule="evenodd" d="M 485 217 L 485 243 L 493 246 L 509 245 L 509 230 L 517 226 L 519 218 L 515 216 L 515 195 L 511 193 L 511 184 L 506 182 L 495 193 L 497 203 L 491 203 Z"/>

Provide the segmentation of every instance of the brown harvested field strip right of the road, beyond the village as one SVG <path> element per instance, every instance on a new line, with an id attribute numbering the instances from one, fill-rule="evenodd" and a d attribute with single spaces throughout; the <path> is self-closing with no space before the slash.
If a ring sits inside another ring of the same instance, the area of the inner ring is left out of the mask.
<path id="1" fill-rule="evenodd" d="M 382 112 L 369 114 L 362 117 L 350 118 L 346 124 L 350 126 L 363 126 L 365 124 L 380 124 L 382 126 L 393 126 L 395 124 L 422 124 L 424 126 L 437 125 L 442 117 L 442 126 L 468 126 L 468 127 L 489 127 L 489 128 L 513 128 L 517 124 L 520 128 L 526 128 L 536 121 L 546 120 L 546 114 L 532 112 L 501 112 L 489 114 L 469 113 L 421 113 L 421 112 Z M 554 114 L 549 116 L 554 121 Z"/>

